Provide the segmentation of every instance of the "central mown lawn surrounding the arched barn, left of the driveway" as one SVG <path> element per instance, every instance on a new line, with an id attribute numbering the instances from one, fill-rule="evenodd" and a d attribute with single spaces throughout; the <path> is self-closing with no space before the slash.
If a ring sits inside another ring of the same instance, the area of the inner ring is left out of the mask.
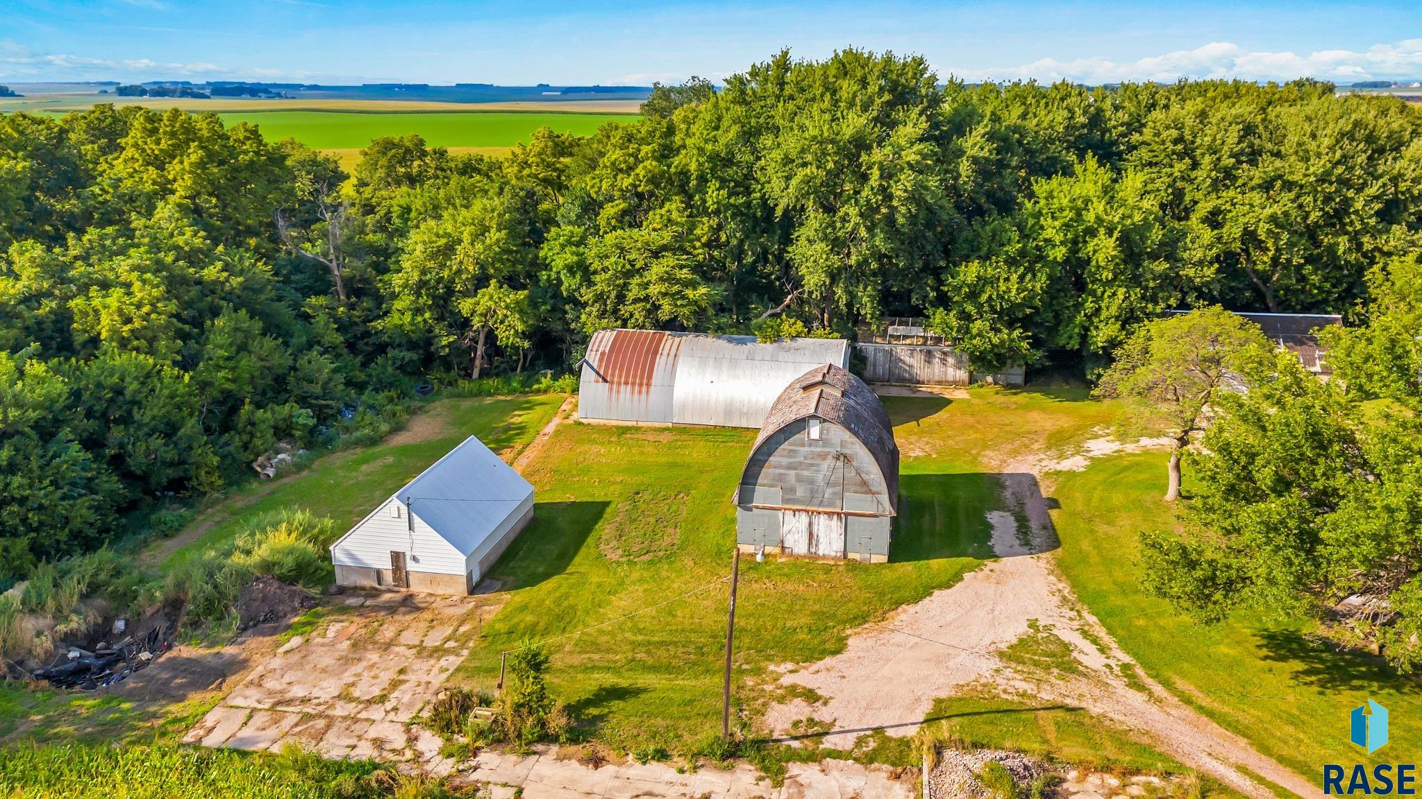
<path id="1" fill-rule="evenodd" d="M 991 554 L 984 513 L 1000 499 L 981 462 L 985 451 L 1066 428 L 1085 432 L 1115 414 L 1071 391 L 974 390 L 966 400 L 889 398 L 886 407 L 903 452 L 892 562 L 741 562 L 735 702 L 749 719 L 768 701 L 775 675 L 766 667 L 842 651 L 852 627 L 951 586 Z M 549 644 L 555 691 L 603 741 L 675 751 L 714 734 L 727 587 L 623 617 L 727 576 L 729 498 L 754 438 L 735 429 L 560 428 L 529 473 L 539 492 L 535 520 L 493 570 L 509 601 L 455 680 L 492 687 L 499 651 L 557 638 Z"/>

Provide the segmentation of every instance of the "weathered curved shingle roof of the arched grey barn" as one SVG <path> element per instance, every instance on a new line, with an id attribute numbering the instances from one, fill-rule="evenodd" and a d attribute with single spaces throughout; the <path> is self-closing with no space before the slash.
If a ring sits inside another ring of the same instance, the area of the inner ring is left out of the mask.
<path id="1" fill-rule="evenodd" d="M 833 422 L 863 442 L 883 475 L 889 503 L 899 510 L 899 445 L 893 439 L 893 422 L 883 402 L 865 381 L 838 365 L 822 365 L 799 375 L 779 397 L 765 418 L 761 435 L 755 436 L 751 455 L 769 436 L 791 422 L 819 417 Z M 744 481 L 744 476 L 742 476 Z"/>

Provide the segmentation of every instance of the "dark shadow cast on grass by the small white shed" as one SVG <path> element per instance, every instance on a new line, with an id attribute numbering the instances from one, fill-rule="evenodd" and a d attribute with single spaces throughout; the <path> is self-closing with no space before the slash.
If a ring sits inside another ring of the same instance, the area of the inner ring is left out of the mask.
<path id="1" fill-rule="evenodd" d="M 607 513 L 609 502 L 536 502 L 533 520 L 491 569 L 503 590 L 526 589 L 559 574 Z"/>

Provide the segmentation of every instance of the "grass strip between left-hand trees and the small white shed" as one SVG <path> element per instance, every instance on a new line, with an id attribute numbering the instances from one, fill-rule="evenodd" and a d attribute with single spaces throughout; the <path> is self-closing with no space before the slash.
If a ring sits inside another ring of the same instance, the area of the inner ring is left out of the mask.
<path id="1" fill-rule="evenodd" d="M 255 515 L 287 506 L 330 516 L 344 530 L 471 435 L 495 452 L 522 449 L 562 402 L 562 394 L 437 401 L 380 446 L 334 452 L 276 482 L 246 483 L 206 508 L 176 539 L 156 542 L 148 557 L 169 569 L 230 542 Z"/>

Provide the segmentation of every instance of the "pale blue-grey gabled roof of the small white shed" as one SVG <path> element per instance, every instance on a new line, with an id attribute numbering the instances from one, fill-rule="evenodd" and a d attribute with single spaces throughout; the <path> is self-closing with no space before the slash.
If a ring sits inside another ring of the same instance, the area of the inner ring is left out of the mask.
<path id="1" fill-rule="evenodd" d="M 532 495 L 522 475 L 471 435 L 392 499 L 468 557 Z"/>

